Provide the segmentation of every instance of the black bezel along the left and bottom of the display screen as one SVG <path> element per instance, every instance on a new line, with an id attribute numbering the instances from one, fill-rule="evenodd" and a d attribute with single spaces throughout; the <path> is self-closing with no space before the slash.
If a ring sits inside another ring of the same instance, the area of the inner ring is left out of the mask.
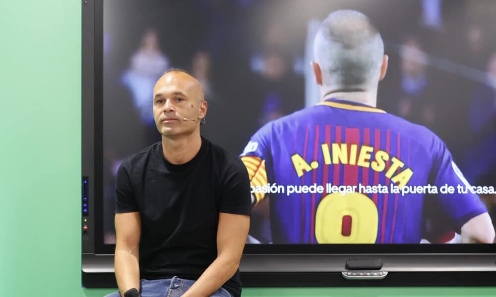
<path id="1" fill-rule="evenodd" d="M 86 5 L 86 6 L 84 6 Z M 113 254 L 115 245 L 104 244 L 103 236 L 103 1 L 83 4 L 83 74 L 82 127 L 83 176 L 90 181 L 90 214 L 93 247 L 83 245 L 83 252 Z M 93 28 L 91 30 L 91 26 Z M 88 32 L 88 29 L 92 32 Z M 89 40 L 91 39 L 92 40 Z M 90 49 L 88 49 L 88 45 Z M 93 52 L 88 53 L 93 45 Z M 93 92 L 91 91 L 93 89 Z M 100 227 L 98 227 L 100 226 Z M 245 254 L 407 254 L 407 253 L 496 253 L 492 244 L 325 244 L 258 245 L 248 244 Z"/>

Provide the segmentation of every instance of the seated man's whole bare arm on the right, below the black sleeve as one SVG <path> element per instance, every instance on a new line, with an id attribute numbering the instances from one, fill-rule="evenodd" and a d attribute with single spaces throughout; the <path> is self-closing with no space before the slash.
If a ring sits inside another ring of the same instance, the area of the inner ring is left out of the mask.
<path id="1" fill-rule="evenodd" d="M 219 213 L 217 258 L 183 297 L 210 296 L 236 273 L 240 266 L 248 229 L 248 215 Z"/>

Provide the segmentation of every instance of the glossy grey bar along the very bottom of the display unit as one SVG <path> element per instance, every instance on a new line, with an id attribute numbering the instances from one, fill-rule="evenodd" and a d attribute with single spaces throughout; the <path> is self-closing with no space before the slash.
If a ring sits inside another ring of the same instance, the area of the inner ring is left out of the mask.
<path id="1" fill-rule="evenodd" d="M 349 259 L 377 257 L 383 279 L 345 279 Z M 87 288 L 117 288 L 114 255 L 83 254 Z M 243 287 L 494 286 L 495 254 L 245 254 Z"/>

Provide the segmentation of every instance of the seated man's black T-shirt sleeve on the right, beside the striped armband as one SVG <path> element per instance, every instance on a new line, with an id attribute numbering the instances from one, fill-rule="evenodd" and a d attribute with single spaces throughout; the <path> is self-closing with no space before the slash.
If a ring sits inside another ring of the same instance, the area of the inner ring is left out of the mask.
<path id="1" fill-rule="evenodd" d="M 251 215 L 251 196 L 248 172 L 236 158 L 227 168 L 222 183 L 220 212 Z"/>

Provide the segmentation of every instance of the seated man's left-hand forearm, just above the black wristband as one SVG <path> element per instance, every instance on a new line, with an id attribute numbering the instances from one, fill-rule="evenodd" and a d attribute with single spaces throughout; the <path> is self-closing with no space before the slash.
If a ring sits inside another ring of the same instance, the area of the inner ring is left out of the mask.
<path id="1" fill-rule="evenodd" d="M 125 249 L 116 249 L 114 268 L 121 295 L 131 288 L 139 291 L 138 256 Z"/>

